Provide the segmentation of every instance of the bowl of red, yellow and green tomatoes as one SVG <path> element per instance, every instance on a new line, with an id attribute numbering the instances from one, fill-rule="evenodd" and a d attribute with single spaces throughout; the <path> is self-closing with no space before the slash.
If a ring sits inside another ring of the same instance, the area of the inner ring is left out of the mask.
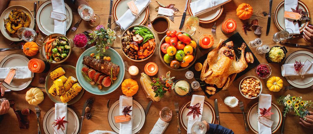
<path id="1" fill-rule="evenodd" d="M 197 42 L 186 32 L 167 31 L 159 45 L 159 57 L 166 67 L 185 70 L 196 62 Z"/>

